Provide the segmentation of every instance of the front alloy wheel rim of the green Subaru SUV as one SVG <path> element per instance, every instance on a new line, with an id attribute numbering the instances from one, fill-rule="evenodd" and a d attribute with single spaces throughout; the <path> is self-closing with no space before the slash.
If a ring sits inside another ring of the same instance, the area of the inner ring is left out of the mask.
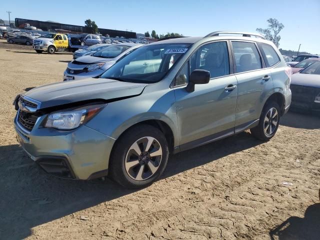
<path id="1" fill-rule="evenodd" d="M 141 137 L 128 149 L 125 156 L 125 170 L 130 178 L 143 181 L 153 176 L 162 160 L 162 148 L 152 136 Z"/>

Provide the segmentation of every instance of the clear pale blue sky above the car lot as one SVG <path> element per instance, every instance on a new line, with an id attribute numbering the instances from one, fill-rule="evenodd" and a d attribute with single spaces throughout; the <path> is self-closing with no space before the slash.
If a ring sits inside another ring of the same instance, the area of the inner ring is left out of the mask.
<path id="1" fill-rule="evenodd" d="M 84 25 L 94 20 L 98 27 L 132 30 L 136 33 L 204 36 L 216 30 L 250 31 L 266 28 L 268 18 L 284 25 L 279 48 L 320 54 L 320 0 L 67 0 L 2 1 L 0 18 L 51 20 Z"/>

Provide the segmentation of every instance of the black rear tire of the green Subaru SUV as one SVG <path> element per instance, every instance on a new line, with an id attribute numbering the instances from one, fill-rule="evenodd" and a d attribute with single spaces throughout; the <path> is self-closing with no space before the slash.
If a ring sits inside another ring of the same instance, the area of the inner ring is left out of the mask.
<path id="1" fill-rule="evenodd" d="M 275 115 L 274 109 L 276 109 L 276 115 Z M 270 115 L 271 115 L 271 119 L 270 119 Z M 251 128 L 250 132 L 257 139 L 260 139 L 262 141 L 268 141 L 275 135 L 279 126 L 279 122 L 280 122 L 280 107 L 275 101 L 269 101 L 264 105 L 262 109 L 262 112 L 259 118 L 259 124 Z"/>

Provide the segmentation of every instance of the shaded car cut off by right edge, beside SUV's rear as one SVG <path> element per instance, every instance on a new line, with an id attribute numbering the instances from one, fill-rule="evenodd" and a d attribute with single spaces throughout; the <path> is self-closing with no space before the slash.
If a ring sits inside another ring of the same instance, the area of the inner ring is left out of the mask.
<path id="1" fill-rule="evenodd" d="M 320 61 L 292 75 L 292 108 L 320 112 Z"/>

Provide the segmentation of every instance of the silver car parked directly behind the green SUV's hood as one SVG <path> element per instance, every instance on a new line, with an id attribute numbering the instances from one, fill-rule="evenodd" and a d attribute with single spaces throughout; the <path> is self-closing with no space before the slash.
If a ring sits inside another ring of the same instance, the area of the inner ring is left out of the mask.
<path id="1" fill-rule="evenodd" d="M 141 46 L 136 43 L 119 43 L 96 51 L 91 56 L 80 56 L 68 63 L 63 80 L 78 80 L 101 75 L 123 56 Z"/>

